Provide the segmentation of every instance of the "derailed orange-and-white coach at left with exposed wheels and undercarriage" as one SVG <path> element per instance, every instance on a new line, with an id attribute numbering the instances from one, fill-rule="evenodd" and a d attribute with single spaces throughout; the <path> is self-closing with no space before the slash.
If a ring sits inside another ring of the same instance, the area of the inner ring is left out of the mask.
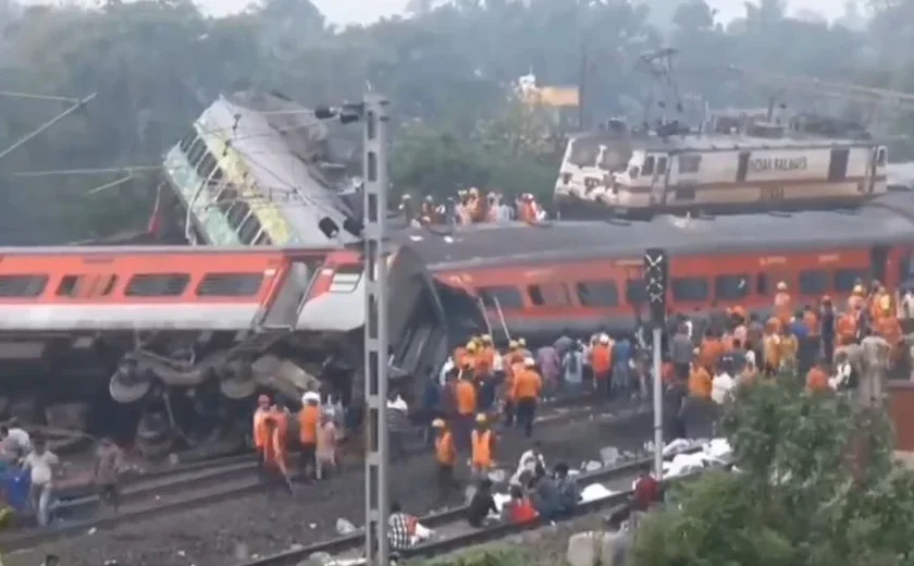
<path id="1" fill-rule="evenodd" d="M 412 250 L 396 250 L 388 270 L 397 382 L 440 362 L 447 325 Z M 150 452 L 209 441 L 246 430 L 259 391 L 296 399 L 323 379 L 357 392 L 363 324 L 355 250 L 3 249 L 0 410 L 74 431 L 136 430 Z"/>

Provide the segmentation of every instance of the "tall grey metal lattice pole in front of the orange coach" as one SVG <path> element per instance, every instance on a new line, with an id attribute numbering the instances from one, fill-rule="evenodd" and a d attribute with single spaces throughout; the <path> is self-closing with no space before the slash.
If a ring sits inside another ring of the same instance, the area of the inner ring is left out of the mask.
<path id="1" fill-rule="evenodd" d="M 387 100 L 365 96 L 365 458 L 366 558 L 388 566 L 387 516 Z"/>

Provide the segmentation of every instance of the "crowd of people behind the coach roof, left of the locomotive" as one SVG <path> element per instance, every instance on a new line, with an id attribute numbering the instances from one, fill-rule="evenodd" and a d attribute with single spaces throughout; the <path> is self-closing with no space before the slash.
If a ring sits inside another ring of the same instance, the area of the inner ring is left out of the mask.
<path id="1" fill-rule="evenodd" d="M 400 199 L 399 210 L 409 224 L 440 225 L 440 224 L 479 224 L 483 222 L 510 222 L 519 220 L 536 223 L 545 220 L 547 213 L 536 201 L 536 198 L 524 193 L 514 202 L 497 192 L 485 193 L 472 187 L 458 190 L 457 195 L 444 201 L 433 196 L 425 196 L 421 202 L 416 202 L 408 193 Z"/>

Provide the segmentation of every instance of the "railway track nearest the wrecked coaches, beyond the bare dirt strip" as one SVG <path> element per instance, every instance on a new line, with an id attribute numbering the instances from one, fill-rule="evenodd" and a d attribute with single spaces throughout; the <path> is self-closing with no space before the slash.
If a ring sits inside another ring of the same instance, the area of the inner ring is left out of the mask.
<path id="1" fill-rule="evenodd" d="M 613 407 L 602 408 L 612 410 Z M 595 414 L 594 407 L 591 406 L 551 407 L 543 411 L 538 421 L 545 426 L 596 417 L 610 422 L 625 421 L 643 414 L 644 410 L 644 406 L 638 406 L 622 410 L 617 408 L 608 414 Z M 361 467 L 361 463 L 358 463 L 358 467 Z M 294 479 L 301 480 L 299 476 Z M 215 465 L 188 465 L 182 469 L 137 479 L 125 485 L 118 514 L 96 513 L 99 502 L 95 495 L 61 502 L 60 510 L 69 520 L 49 529 L 32 529 L 2 536 L 0 546 L 8 552 L 27 549 L 125 522 L 155 519 L 210 506 L 264 489 L 267 487 L 258 476 L 249 455 L 225 458 Z"/>

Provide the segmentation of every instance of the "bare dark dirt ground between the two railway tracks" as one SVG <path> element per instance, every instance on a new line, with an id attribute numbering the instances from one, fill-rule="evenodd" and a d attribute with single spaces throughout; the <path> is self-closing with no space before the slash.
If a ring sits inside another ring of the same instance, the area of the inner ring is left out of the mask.
<path id="1" fill-rule="evenodd" d="M 641 450 L 651 436 L 651 419 L 647 414 L 621 423 L 598 418 L 580 420 L 542 427 L 534 436 L 542 443 L 547 464 L 566 460 L 576 467 L 598 460 L 600 450 L 605 446 Z M 514 468 L 529 446 L 529 441 L 512 431 L 501 444 L 498 459 Z M 418 515 L 435 508 L 431 454 L 393 463 L 392 468 L 393 501 Z M 292 495 L 264 489 L 177 516 L 131 522 L 21 551 L 4 556 L 4 564 L 39 566 L 46 553 L 54 553 L 67 566 L 231 566 L 243 562 L 245 554 L 267 555 L 293 544 L 334 538 L 339 517 L 360 526 L 363 494 L 363 475 L 347 472 L 318 484 L 298 484 Z M 455 494 L 448 504 L 462 504 L 462 494 Z"/>

